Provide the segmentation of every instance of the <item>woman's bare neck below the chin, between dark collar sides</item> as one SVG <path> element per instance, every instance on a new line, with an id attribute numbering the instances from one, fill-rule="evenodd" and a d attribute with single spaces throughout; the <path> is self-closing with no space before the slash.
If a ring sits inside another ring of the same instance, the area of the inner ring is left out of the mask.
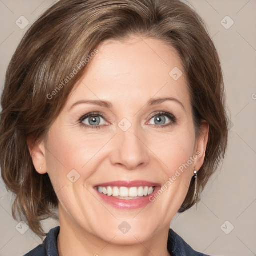
<path id="1" fill-rule="evenodd" d="M 115 243 L 115 237 L 105 241 L 87 232 L 70 219 L 63 219 L 59 214 L 60 231 L 57 239 L 59 256 L 170 256 L 167 251 L 167 238 L 169 227 L 157 232 L 146 241 L 123 245 Z"/>

